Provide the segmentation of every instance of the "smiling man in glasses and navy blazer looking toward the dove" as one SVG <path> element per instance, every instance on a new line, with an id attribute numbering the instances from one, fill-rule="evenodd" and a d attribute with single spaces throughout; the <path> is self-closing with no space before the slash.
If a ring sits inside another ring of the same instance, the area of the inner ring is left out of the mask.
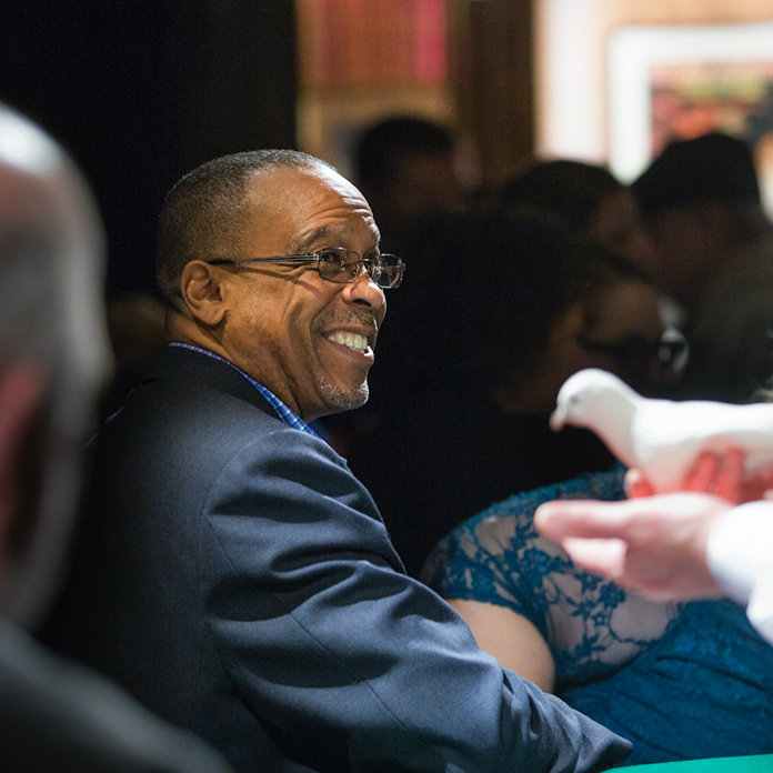
<path id="1" fill-rule="evenodd" d="M 92 444 L 46 639 L 240 773 L 611 766 L 626 742 L 483 654 L 307 425 L 368 399 L 402 272 L 360 192 L 311 157 L 240 153 L 178 183 L 170 347 Z"/>

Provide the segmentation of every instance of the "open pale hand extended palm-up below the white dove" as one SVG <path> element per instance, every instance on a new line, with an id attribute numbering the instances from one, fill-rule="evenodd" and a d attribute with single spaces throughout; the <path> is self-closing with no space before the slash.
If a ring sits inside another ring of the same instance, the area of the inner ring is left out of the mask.
<path id="1" fill-rule="evenodd" d="M 622 502 L 559 500 L 540 505 L 534 524 L 584 569 L 656 601 L 676 601 L 719 595 L 706 542 L 731 506 L 697 492 Z"/>

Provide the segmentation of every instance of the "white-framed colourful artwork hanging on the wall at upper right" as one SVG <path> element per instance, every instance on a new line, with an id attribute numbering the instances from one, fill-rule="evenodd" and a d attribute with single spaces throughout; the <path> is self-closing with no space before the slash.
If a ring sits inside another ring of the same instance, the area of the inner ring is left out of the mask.
<path id="1" fill-rule="evenodd" d="M 773 212 L 773 23 L 621 28 L 608 63 L 610 168 L 621 180 L 670 140 L 720 130 L 752 145 Z"/>

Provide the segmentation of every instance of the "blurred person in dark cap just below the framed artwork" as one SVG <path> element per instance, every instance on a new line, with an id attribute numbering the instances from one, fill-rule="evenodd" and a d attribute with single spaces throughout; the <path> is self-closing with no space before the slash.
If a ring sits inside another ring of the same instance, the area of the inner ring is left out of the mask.
<path id="1" fill-rule="evenodd" d="M 773 225 L 747 144 L 671 142 L 633 183 L 650 272 L 683 311 L 690 362 L 675 396 L 747 402 L 773 373 Z"/>

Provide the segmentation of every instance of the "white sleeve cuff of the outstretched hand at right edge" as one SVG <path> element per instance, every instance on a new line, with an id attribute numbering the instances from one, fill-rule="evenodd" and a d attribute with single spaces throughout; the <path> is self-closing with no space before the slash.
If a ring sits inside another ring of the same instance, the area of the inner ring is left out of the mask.
<path id="1" fill-rule="evenodd" d="M 773 501 L 747 502 L 716 523 L 706 548 L 709 570 L 752 625 L 773 644 Z"/>

